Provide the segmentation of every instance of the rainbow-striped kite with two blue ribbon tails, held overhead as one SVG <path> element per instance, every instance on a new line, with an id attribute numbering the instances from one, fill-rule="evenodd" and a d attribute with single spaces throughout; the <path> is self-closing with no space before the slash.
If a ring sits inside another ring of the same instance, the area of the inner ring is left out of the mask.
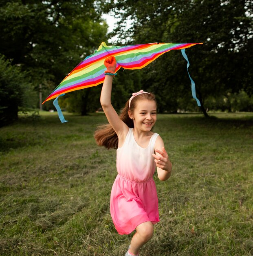
<path id="1" fill-rule="evenodd" d="M 58 105 L 58 97 L 63 96 L 68 92 L 97 86 L 103 83 L 105 79 L 104 72 L 106 71 L 103 62 L 106 57 L 111 55 L 116 58 L 117 72 L 121 67 L 129 70 L 141 69 L 166 52 L 171 50 L 181 50 L 183 57 L 187 61 L 187 72 L 191 80 L 192 96 L 197 101 L 197 105 L 200 106 L 200 101 L 196 97 L 195 83 L 191 79 L 188 71 L 189 61 L 185 54 L 186 48 L 198 44 L 202 43 L 149 43 L 140 45 L 107 46 L 106 43 L 102 42 L 97 51 L 90 56 L 87 56 L 81 63 L 79 63 L 79 65 L 77 65 L 77 67 L 67 74 L 63 81 L 55 88 L 55 90 L 53 90 L 42 104 L 56 98 L 54 100 L 54 105 L 58 111 L 59 118 L 62 122 L 66 122 Z"/>

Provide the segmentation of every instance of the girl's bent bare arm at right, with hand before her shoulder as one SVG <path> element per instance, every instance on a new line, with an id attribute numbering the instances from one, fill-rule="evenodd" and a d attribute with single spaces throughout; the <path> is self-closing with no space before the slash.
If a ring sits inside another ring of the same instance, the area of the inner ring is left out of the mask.
<path id="1" fill-rule="evenodd" d="M 155 143 L 155 154 L 153 154 L 156 163 L 157 174 L 159 180 L 167 180 L 172 172 L 172 163 L 169 161 L 169 156 L 164 148 L 163 139 L 158 136 Z"/>

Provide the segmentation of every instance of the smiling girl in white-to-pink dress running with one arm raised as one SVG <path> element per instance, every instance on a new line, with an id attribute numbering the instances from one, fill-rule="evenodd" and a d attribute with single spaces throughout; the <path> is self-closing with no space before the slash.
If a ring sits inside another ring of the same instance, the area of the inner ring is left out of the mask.
<path id="1" fill-rule="evenodd" d="M 162 138 L 152 132 L 156 123 L 154 95 L 142 90 L 133 93 L 118 116 L 111 104 L 115 58 L 106 58 L 104 65 L 107 70 L 100 102 L 109 124 L 95 132 L 95 139 L 99 146 L 117 148 L 118 175 L 112 186 L 110 212 L 119 234 L 136 229 L 125 256 L 137 256 L 141 246 L 152 238 L 154 224 L 160 221 L 152 177 L 155 166 L 158 178 L 167 180 L 172 163 Z"/>

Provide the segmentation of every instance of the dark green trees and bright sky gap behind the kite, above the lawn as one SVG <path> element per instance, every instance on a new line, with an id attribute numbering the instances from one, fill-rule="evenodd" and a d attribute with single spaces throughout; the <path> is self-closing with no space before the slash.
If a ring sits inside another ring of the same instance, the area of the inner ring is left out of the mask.
<path id="1" fill-rule="evenodd" d="M 142 70 L 120 70 L 112 102 L 152 91 L 158 112 L 253 111 L 251 0 L 0 0 L 0 126 L 19 112 L 53 111 L 41 102 L 102 41 L 108 45 L 200 43 L 186 61 L 171 51 Z M 59 99 L 68 112 L 99 110 L 101 85 Z"/>

